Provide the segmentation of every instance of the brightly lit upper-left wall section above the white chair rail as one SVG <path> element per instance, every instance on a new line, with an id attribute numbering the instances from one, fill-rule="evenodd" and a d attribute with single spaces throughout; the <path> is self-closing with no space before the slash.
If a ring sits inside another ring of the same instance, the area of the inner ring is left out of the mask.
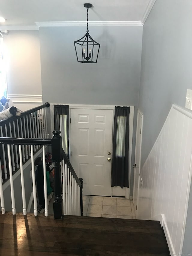
<path id="1" fill-rule="evenodd" d="M 41 95 L 39 31 L 10 31 L 3 41 L 8 94 Z"/>

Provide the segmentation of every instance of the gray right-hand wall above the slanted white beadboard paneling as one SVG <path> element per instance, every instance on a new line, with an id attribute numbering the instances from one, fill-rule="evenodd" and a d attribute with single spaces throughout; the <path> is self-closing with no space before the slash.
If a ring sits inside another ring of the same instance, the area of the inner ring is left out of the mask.
<path id="1" fill-rule="evenodd" d="M 185 106 L 192 89 L 191 0 L 156 0 L 143 27 L 139 108 L 143 112 L 141 160 L 146 161 L 172 104 Z M 191 191 L 190 191 L 191 192 Z M 190 193 L 191 195 L 192 193 Z M 183 252 L 191 253 L 192 198 Z"/>

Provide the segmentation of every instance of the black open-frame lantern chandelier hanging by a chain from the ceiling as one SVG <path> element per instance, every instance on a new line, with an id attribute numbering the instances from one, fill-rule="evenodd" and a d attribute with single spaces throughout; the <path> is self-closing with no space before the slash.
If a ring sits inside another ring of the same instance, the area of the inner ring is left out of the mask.
<path id="1" fill-rule="evenodd" d="M 91 4 L 84 4 L 87 8 L 87 33 L 79 40 L 74 41 L 77 61 L 81 63 L 97 63 L 100 44 L 97 43 L 88 31 L 88 9 Z"/>

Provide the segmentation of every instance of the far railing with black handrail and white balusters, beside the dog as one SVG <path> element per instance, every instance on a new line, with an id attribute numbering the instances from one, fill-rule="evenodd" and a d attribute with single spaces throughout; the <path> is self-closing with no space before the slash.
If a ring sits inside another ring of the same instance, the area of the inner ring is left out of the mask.
<path id="1" fill-rule="evenodd" d="M 0 136 L 13 138 L 48 138 L 46 122 L 47 107 L 49 107 L 49 103 L 25 111 L 21 113 L 20 116 L 13 116 L 0 121 Z M 25 147 L 24 145 L 21 146 L 22 163 L 24 163 L 31 156 L 31 149 L 30 145 L 25 145 Z M 10 165 L 8 164 L 7 147 L 5 148 L 4 144 L 0 147 L 0 158 L 3 166 L 1 172 L 3 181 L 5 181 L 8 178 L 7 170 Z M 34 152 L 36 150 L 38 150 L 38 146 L 35 148 L 34 145 Z M 11 168 L 15 171 L 16 168 L 19 168 L 17 145 L 10 144 L 10 153 L 12 162 Z"/>

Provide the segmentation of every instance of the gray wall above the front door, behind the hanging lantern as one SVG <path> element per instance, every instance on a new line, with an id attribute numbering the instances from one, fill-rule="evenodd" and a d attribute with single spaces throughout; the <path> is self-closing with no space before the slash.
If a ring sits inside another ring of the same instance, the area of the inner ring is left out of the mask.
<path id="1" fill-rule="evenodd" d="M 136 105 L 142 27 L 90 27 L 101 50 L 97 64 L 76 60 L 73 41 L 85 27 L 40 28 L 43 102 Z"/>

